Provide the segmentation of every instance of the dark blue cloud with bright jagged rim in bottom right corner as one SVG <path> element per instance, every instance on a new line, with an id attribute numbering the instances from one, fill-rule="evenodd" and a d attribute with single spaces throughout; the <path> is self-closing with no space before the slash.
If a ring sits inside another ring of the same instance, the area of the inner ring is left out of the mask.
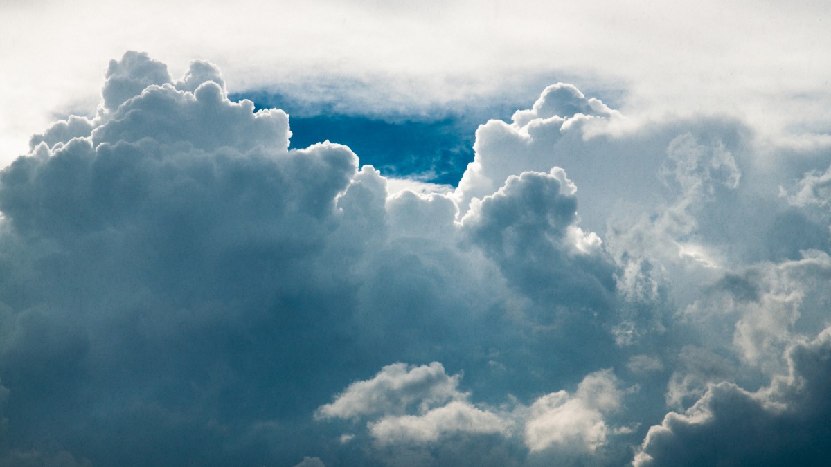
<path id="1" fill-rule="evenodd" d="M 789 375 L 749 392 L 710 387 L 683 414 L 666 415 L 635 465 L 823 465 L 829 458 L 831 328 L 788 352 Z"/>

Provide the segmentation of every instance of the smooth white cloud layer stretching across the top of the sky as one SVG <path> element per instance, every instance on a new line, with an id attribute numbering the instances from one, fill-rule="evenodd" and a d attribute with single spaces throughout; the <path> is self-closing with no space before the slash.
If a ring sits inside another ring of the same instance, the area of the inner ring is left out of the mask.
<path id="1" fill-rule="evenodd" d="M 46 5 L 4 8 L 2 29 L 14 41 L 4 43 L 2 56 L 14 65 L 0 89 L 7 90 L 4 108 L 26 116 L 25 123 L 12 114 L 0 119 L 11 122 L 3 131 L 4 154 L 25 150 L 28 135 L 42 128 L 54 106 L 94 101 L 89 90 L 101 63 L 125 47 L 169 63 L 196 55 L 217 61 L 235 89 L 286 81 L 313 89 L 321 75 L 367 79 L 386 89 L 365 96 L 353 91 L 357 99 L 387 109 L 510 92 L 505 89 L 520 94 L 538 86 L 538 76 L 568 75 L 625 88 L 627 110 L 640 115 L 742 114 L 769 133 L 787 132 L 789 125 L 821 133 L 829 125 L 824 82 L 831 71 L 815 59 L 829 48 L 822 2 L 783 8 L 743 0 L 695 7 L 455 1 L 408 7 L 406 14 L 403 7 L 363 2 L 211 2 L 197 10 L 157 1 L 130 8 L 98 0 Z M 150 21 L 153 34 L 143 27 Z M 35 22 L 40 35 L 27 33 Z M 55 70 L 61 79 L 53 78 Z"/>

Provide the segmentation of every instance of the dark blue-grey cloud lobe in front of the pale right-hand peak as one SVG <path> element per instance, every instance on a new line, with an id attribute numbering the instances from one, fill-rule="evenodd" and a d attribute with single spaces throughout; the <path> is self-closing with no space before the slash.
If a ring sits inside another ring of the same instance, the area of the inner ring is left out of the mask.
<path id="1" fill-rule="evenodd" d="M 506 278 L 539 300 L 602 308 L 614 288 L 600 238 L 577 227 L 577 189 L 565 171 L 511 175 L 496 193 L 478 199 L 462 219 L 465 232 Z M 573 297 L 571 292 L 589 292 Z"/>

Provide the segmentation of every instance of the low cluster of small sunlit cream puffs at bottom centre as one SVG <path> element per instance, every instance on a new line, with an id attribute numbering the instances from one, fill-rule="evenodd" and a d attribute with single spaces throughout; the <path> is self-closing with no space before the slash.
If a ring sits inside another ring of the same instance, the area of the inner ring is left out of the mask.
<path id="1" fill-rule="evenodd" d="M 607 444 L 611 429 L 604 415 L 618 410 L 623 392 L 610 370 L 583 378 L 574 394 L 552 392 L 530 406 L 518 401 L 498 409 L 477 407 L 470 393 L 457 391 L 460 375 L 448 376 L 437 362 L 429 366 L 385 366 L 370 380 L 356 381 L 331 404 L 317 409 L 319 420 L 365 419 L 378 445 L 435 444 L 457 435 L 499 435 L 522 440 L 531 453 L 591 453 Z"/>

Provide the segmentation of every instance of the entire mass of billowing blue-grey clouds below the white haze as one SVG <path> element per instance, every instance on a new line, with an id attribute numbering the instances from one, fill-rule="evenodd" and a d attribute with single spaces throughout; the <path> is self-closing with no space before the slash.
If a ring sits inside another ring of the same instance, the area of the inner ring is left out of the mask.
<path id="1" fill-rule="evenodd" d="M 558 83 L 416 193 L 207 61 L 101 94 L 0 172 L 0 465 L 827 454 L 820 156 Z"/>

